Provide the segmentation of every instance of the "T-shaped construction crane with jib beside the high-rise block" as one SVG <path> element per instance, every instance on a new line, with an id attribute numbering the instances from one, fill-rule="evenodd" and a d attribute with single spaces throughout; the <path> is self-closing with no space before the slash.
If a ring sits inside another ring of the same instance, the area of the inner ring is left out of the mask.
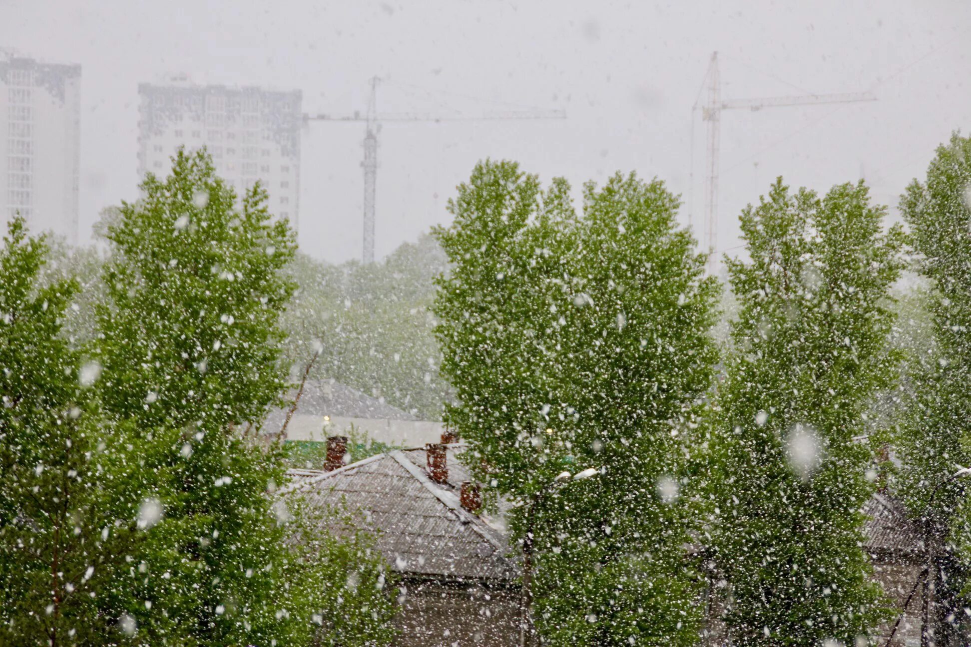
<path id="1" fill-rule="evenodd" d="M 364 169 L 364 245 L 361 260 L 364 263 L 374 262 L 374 230 L 375 230 L 375 193 L 378 179 L 378 132 L 379 124 L 385 121 L 491 121 L 509 119 L 565 119 L 566 113 L 561 110 L 521 110 L 503 111 L 496 113 L 482 113 L 473 116 L 435 115 L 425 113 L 378 113 L 378 77 L 370 80 L 371 92 L 367 102 L 367 112 L 363 115 L 352 114 L 304 114 L 304 121 L 364 121 L 364 159 L 361 168 Z"/>

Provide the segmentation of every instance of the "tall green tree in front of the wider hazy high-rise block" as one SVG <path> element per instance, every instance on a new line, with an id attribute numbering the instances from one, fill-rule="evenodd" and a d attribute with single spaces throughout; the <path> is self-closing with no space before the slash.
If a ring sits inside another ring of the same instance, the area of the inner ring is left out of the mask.
<path id="1" fill-rule="evenodd" d="M 255 431 L 288 385 L 279 319 L 294 290 L 284 272 L 294 235 L 267 211 L 259 184 L 238 201 L 204 151 L 180 150 L 171 176 L 149 175 L 141 188 L 107 227 L 97 356 L 111 416 L 179 434 L 165 470 L 179 488 L 161 503 L 190 538 L 146 545 L 145 595 L 182 591 L 164 613 L 201 644 L 305 645 L 327 610 L 295 592 L 326 565 L 292 566 L 309 562 L 294 547 L 306 542 L 293 540 L 292 513 L 273 499 L 285 453 Z M 182 559 L 153 559 L 170 551 Z M 388 608 L 373 606 L 343 644 L 368 641 Z"/>

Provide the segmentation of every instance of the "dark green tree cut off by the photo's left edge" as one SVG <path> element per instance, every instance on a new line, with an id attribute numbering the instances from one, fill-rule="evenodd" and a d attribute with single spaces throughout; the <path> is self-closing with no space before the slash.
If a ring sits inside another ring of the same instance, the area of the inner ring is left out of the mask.
<path id="1" fill-rule="evenodd" d="M 0 250 L 0 644 L 133 644 L 124 580 L 159 532 L 139 521 L 164 486 L 143 475 L 172 438 L 136 446 L 129 427 L 104 426 L 99 367 L 62 334 L 78 283 L 42 281 L 47 262 L 44 239 L 15 218 Z M 168 624 L 143 636 L 164 638 Z"/>

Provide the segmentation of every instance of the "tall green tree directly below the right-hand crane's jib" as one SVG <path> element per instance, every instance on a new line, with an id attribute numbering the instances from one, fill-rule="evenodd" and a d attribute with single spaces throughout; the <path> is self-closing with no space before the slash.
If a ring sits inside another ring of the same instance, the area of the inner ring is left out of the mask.
<path id="1" fill-rule="evenodd" d="M 710 439 L 733 644 L 850 644 L 885 617 L 861 548 L 873 455 L 857 440 L 897 363 L 902 233 L 882 233 L 885 212 L 862 182 L 820 199 L 780 178 L 742 213 L 751 260 L 727 261 L 739 310 Z"/>

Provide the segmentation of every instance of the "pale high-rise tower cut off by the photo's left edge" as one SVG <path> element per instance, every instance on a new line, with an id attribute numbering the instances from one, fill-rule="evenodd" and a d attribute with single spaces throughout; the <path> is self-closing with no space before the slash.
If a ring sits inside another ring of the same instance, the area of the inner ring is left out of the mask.
<path id="1" fill-rule="evenodd" d="M 0 208 L 78 242 L 81 66 L 0 51 Z"/>

